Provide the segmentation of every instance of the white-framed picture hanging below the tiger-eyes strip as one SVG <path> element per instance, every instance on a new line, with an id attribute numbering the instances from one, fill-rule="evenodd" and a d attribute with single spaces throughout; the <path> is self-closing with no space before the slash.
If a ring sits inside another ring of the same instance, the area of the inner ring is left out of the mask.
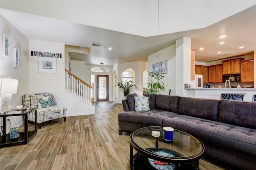
<path id="1" fill-rule="evenodd" d="M 38 58 L 38 72 L 56 73 L 57 72 L 57 59 L 51 57 Z"/>

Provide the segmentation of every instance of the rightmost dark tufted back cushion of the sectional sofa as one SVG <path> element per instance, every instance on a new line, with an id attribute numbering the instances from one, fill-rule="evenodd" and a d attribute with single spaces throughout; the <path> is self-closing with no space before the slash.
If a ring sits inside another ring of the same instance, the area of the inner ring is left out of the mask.
<path id="1" fill-rule="evenodd" d="M 256 103 L 220 100 L 220 122 L 256 129 Z"/>

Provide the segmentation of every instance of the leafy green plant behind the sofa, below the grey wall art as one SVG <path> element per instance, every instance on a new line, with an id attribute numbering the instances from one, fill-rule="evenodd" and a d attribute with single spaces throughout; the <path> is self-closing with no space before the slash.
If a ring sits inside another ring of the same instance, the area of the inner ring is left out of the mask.
<path id="1" fill-rule="evenodd" d="M 158 94 L 160 90 L 164 90 L 164 76 L 160 75 L 158 72 L 154 74 L 149 71 L 148 76 L 150 76 L 147 78 L 149 93 Z"/>

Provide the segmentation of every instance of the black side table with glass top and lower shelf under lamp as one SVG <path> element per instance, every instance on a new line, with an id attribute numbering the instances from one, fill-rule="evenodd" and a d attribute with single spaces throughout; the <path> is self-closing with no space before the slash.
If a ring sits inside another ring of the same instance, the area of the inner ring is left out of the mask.
<path id="1" fill-rule="evenodd" d="M 28 131 L 28 114 L 34 114 L 35 117 L 32 131 Z M 6 119 L 11 116 L 24 116 L 24 132 L 20 132 L 20 136 L 14 139 L 10 139 L 10 134 L 6 134 Z M 3 117 L 3 135 L 0 136 L 0 147 L 27 144 L 37 133 L 37 108 L 27 109 L 26 111 L 13 109 L 8 113 L 0 114 L 0 117 Z"/>

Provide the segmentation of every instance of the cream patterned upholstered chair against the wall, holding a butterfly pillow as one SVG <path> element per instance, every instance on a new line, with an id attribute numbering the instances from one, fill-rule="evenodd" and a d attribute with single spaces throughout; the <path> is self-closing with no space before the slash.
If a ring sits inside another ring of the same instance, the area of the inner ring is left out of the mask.
<path id="1" fill-rule="evenodd" d="M 50 96 L 52 98 L 52 106 L 45 108 L 38 108 L 38 96 Z M 52 93 L 38 93 L 38 94 L 24 94 L 22 96 L 23 106 L 27 108 L 38 108 L 37 109 L 37 123 L 38 129 L 41 129 L 42 123 L 45 121 L 57 119 L 63 117 L 66 121 L 66 107 L 57 105 L 57 102 Z M 28 115 L 28 120 L 35 121 L 34 114 Z"/>

